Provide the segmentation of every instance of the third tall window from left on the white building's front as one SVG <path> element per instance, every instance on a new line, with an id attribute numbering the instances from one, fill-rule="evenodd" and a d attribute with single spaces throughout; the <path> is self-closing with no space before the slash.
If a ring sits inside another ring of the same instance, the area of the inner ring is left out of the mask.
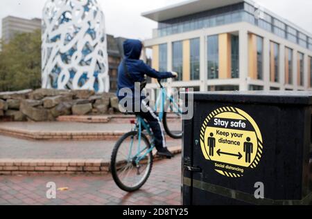
<path id="1" fill-rule="evenodd" d="M 191 80 L 200 79 L 200 39 L 190 40 L 191 50 Z"/>

